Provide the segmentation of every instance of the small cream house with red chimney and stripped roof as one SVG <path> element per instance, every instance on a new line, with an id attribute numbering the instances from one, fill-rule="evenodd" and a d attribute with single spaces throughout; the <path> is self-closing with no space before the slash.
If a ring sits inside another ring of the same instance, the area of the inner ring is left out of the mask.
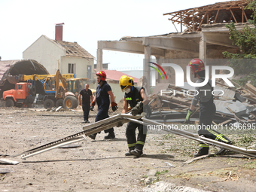
<path id="1" fill-rule="evenodd" d="M 23 59 L 35 59 L 50 74 L 59 69 L 62 74 L 74 73 L 76 78 L 93 78 L 94 57 L 77 42 L 62 41 L 63 24 L 56 24 L 55 40 L 41 35 L 23 51 Z"/>

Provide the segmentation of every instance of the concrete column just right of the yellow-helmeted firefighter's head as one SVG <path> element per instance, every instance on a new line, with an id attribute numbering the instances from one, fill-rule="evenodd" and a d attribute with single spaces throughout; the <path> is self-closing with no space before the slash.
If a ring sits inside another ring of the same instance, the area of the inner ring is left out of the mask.
<path id="1" fill-rule="evenodd" d="M 145 54 L 145 59 L 144 59 L 144 66 L 143 66 L 143 70 L 144 70 L 143 75 L 147 79 L 144 86 L 146 88 L 147 93 L 149 93 L 150 82 L 151 82 L 151 77 L 150 77 L 151 68 L 148 67 L 150 65 L 149 62 L 151 61 L 151 47 L 149 45 L 145 45 L 144 54 Z"/>

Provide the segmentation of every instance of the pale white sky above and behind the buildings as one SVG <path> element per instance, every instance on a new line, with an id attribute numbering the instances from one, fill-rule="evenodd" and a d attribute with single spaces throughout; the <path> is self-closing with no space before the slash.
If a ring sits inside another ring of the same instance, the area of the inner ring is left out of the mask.
<path id="1" fill-rule="evenodd" d="M 97 41 L 123 36 L 176 32 L 163 14 L 210 5 L 222 0 L 0 0 L 0 56 L 23 59 L 41 35 L 55 38 L 55 23 L 63 26 L 63 41 L 77 41 L 96 57 Z M 176 26 L 180 30 L 180 26 Z M 103 50 L 110 68 L 142 67 L 143 55 Z M 96 60 L 95 60 L 96 63 Z"/>

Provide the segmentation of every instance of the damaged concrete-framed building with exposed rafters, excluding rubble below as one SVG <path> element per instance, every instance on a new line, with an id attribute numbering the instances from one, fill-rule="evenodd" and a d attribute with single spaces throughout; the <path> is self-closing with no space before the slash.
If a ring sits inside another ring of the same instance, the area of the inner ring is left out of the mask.
<path id="1" fill-rule="evenodd" d="M 183 59 L 177 64 L 185 71 L 190 59 L 222 59 L 222 52 L 239 53 L 239 48 L 230 40 L 225 24 L 234 22 L 236 29 L 241 30 L 250 19 L 251 10 L 245 9 L 248 2 L 231 1 L 200 8 L 190 8 L 163 15 L 169 16 L 172 23 L 181 26 L 181 32 L 145 37 L 123 37 L 119 41 L 98 41 L 97 71 L 102 69 L 102 50 L 115 50 L 145 55 L 143 64 L 144 76 L 150 79 L 148 62 L 155 56 L 158 64 L 174 63 L 173 59 Z M 187 27 L 186 30 L 182 26 Z M 250 25 L 249 25 L 250 26 Z M 212 65 L 215 63 L 208 63 Z M 174 71 L 163 67 L 168 81 L 175 82 Z M 157 83 L 167 83 L 157 74 Z M 149 89 L 149 85 L 147 87 Z"/>

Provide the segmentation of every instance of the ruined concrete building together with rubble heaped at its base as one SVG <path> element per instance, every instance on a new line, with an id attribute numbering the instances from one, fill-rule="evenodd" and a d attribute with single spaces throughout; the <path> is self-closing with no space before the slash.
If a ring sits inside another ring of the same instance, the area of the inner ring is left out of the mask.
<path id="1" fill-rule="evenodd" d="M 156 86 L 150 97 L 151 117 L 160 119 L 164 123 L 183 123 L 192 96 L 182 93 L 192 88 L 175 87 L 177 83 L 175 70 L 162 64 L 175 63 L 183 69 L 183 72 L 186 72 L 187 64 L 193 58 L 203 59 L 206 66 L 227 66 L 227 59 L 224 59 L 223 52 L 239 53 L 239 47 L 230 40 L 229 29 L 225 25 L 233 22 L 238 31 L 245 26 L 252 27 L 248 23 L 252 11 L 246 9 L 247 5 L 246 0 L 240 0 L 174 11 L 163 16 L 168 17 L 170 24 L 178 28 L 177 32 L 142 37 L 126 36 L 119 41 L 98 41 L 97 71 L 102 69 L 102 50 L 144 54 L 145 82 L 151 79 L 152 69 L 148 67 L 150 65 L 148 62 L 159 64 L 166 72 L 166 78 L 162 78 L 160 73 L 156 72 Z M 151 59 L 151 56 L 156 59 Z M 221 71 L 218 72 L 221 73 Z M 186 81 L 186 75 L 184 75 L 184 81 Z M 194 81 L 193 77 L 191 81 Z M 151 88 L 150 84 L 145 84 L 144 87 L 146 90 Z M 236 87 L 239 88 L 227 87 L 221 82 L 218 82 L 215 87 L 225 93 L 224 96 L 215 96 L 217 106 L 215 123 L 255 121 L 255 87 L 249 83 L 245 87 L 238 85 Z M 181 93 L 175 96 L 173 92 L 161 95 L 160 90 L 178 90 Z M 198 120 L 198 112 L 194 114 L 192 121 L 196 120 Z"/>

